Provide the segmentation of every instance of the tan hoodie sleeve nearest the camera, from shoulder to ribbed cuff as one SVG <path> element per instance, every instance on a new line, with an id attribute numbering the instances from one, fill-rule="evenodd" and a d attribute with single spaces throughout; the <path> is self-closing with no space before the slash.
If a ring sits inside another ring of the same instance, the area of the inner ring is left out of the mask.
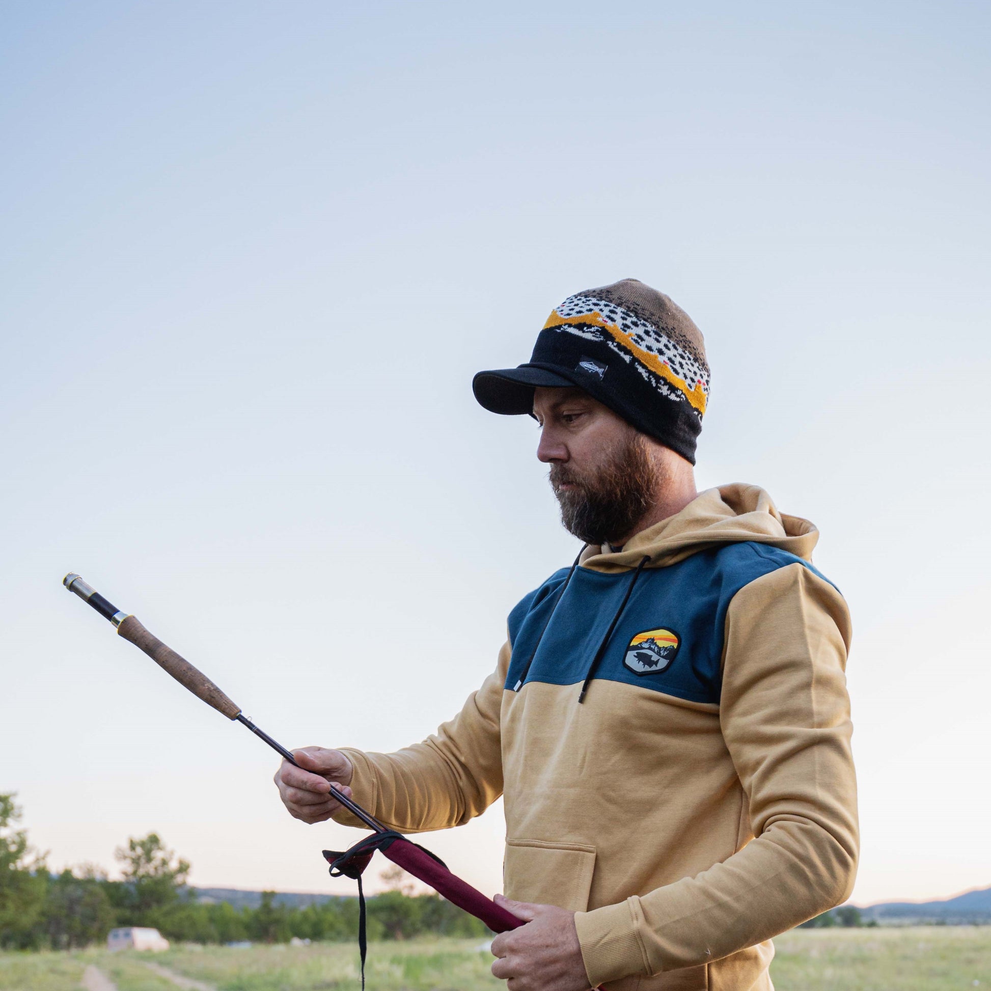
<path id="1" fill-rule="evenodd" d="M 695 877 L 579 913 L 593 987 L 711 962 L 849 897 L 858 847 L 849 639 L 843 599 L 801 564 L 733 597 L 719 718 L 746 799 L 741 848 Z"/>

